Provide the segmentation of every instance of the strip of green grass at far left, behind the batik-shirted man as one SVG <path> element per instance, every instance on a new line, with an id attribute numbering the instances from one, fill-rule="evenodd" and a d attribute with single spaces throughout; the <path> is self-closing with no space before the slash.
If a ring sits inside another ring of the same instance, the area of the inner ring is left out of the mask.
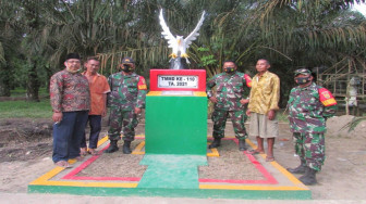
<path id="1" fill-rule="evenodd" d="M 0 102 L 0 118 L 51 118 L 52 109 L 49 99 L 40 102 L 3 101 Z"/>

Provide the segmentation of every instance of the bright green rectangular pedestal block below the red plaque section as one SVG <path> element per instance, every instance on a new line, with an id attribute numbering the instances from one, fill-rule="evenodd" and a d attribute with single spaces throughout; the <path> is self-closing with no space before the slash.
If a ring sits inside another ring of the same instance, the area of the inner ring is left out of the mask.
<path id="1" fill-rule="evenodd" d="M 205 92 L 186 92 L 192 94 L 150 91 L 146 95 L 146 154 L 206 156 L 207 97 Z"/>

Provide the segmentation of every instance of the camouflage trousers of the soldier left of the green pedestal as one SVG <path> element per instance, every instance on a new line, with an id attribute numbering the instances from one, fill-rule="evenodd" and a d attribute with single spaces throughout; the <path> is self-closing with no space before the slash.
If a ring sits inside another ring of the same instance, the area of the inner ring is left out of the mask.
<path id="1" fill-rule="evenodd" d="M 123 133 L 122 139 L 125 141 L 133 141 L 135 139 L 135 127 L 138 120 L 134 111 L 111 107 L 109 124 L 109 140 L 119 140 L 121 133 Z"/>

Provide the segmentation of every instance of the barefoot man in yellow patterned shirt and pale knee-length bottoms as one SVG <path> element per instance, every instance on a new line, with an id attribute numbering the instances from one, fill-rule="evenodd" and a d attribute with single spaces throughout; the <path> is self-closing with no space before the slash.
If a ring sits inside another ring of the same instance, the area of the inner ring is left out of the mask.
<path id="1" fill-rule="evenodd" d="M 280 78 L 268 72 L 270 64 L 260 59 L 256 64 L 258 74 L 253 77 L 249 104 L 246 114 L 251 116 L 249 136 L 256 137 L 258 148 L 252 154 L 264 154 L 264 140 L 267 138 L 267 162 L 274 161 L 274 138 L 279 135 L 276 111 L 279 110 Z"/>

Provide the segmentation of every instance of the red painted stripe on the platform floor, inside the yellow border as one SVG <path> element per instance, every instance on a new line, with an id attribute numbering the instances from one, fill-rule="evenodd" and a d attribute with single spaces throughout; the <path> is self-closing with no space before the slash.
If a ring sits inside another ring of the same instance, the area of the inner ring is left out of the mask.
<path id="1" fill-rule="evenodd" d="M 135 139 L 144 139 L 144 138 L 135 138 Z M 212 138 L 210 139 L 212 140 Z M 233 140 L 236 144 L 239 144 L 237 139 L 234 138 L 223 138 L 223 140 Z M 107 145 L 101 151 L 108 149 Z M 223 179 L 198 179 L 198 182 L 225 182 L 225 183 L 253 183 L 253 184 L 263 184 L 263 183 L 270 183 L 270 184 L 278 184 L 278 181 L 270 175 L 266 168 L 252 155 L 248 154 L 246 151 L 243 152 L 248 160 L 255 165 L 255 167 L 263 174 L 265 177 L 264 180 L 223 180 Z M 77 177 L 76 175 L 95 162 L 100 155 L 91 156 L 89 160 L 85 161 L 82 165 L 70 171 L 68 175 L 62 177 L 62 179 L 69 180 L 123 180 L 123 181 L 139 181 L 141 178 L 137 177 Z"/>

